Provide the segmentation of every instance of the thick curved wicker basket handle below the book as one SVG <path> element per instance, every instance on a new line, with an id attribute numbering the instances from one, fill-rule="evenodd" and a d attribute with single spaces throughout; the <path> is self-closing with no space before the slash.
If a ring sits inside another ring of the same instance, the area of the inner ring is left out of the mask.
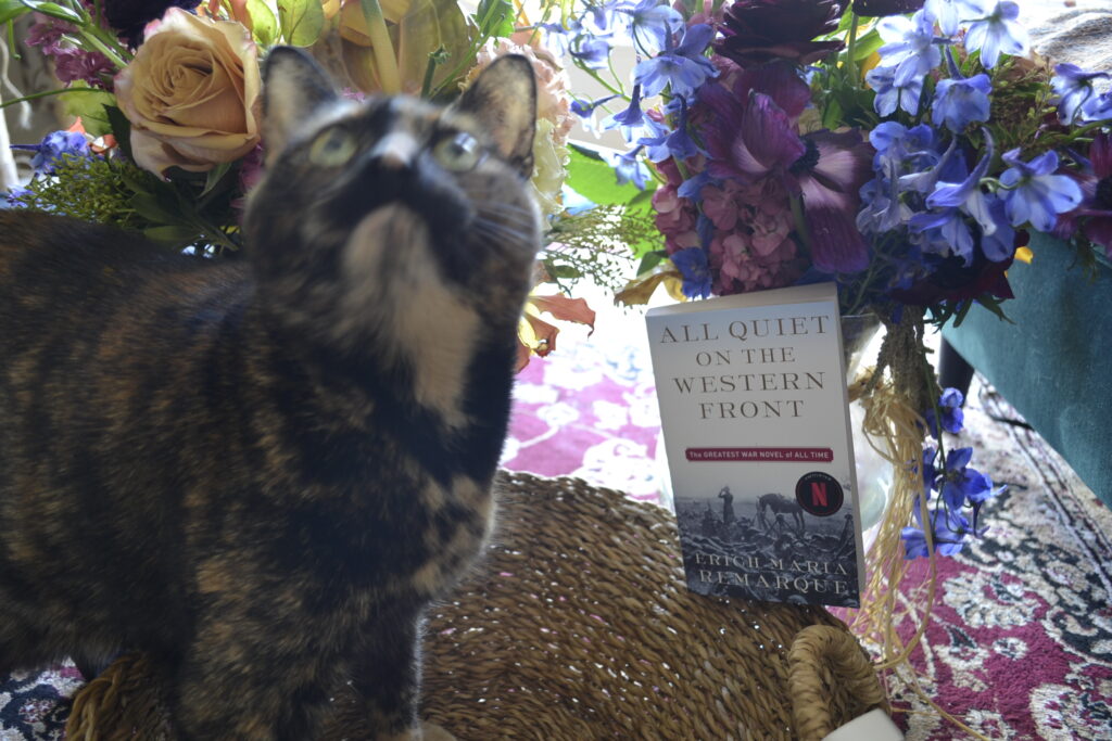
<path id="1" fill-rule="evenodd" d="M 838 725 L 873 708 L 890 712 L 887 697 L 861 644 L 831 625 L 801 630 L 788 652 L 788 690 L 795 731 L 802 741 L 820 741 Z M 853 705 L 847 717 L 832 712 L 833 688 L 845 688 Z"/>

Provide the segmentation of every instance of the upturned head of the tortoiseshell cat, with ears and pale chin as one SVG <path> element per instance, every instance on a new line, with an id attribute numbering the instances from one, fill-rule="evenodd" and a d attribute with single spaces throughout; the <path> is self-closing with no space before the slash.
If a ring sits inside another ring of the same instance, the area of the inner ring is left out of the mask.
<path id="1" fill-rule="evenodd" d="M 244 229 L 275 311 L 353 343 L 388 334 L 398 312 L 516 327 L 539 247 L 524 57 L 493 62 L 447 108 L 346 99 L 291 48 L 270 52 L 264 83 L 266 174 Z"/>

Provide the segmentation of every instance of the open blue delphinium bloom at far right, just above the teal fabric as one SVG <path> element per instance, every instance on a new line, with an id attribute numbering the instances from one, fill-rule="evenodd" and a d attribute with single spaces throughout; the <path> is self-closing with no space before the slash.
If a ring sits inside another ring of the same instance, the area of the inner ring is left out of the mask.
<path id="1" fill-rule="evenodd" d="M 1004 161 L 1011 167 L 1000 176 L 1005 190 L 1004 211 L 1013 227 L 1031 222 L 1042 232 L 1054 228 L 1059 213 L 1078 208 L 1082 193 L 1078 183 L 1068 176 L 1054 174 L 1058 170 L 1058 154 L 1043 152 L 1030 162 L 1020 160 L 1020 150 L 1004 153 Z"/>

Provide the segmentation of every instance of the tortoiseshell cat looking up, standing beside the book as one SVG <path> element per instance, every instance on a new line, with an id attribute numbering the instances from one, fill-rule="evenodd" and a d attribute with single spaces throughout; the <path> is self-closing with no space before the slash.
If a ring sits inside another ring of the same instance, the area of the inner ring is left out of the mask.
<path id="1" fill-rule="evenodd" d="M 489 534 L 539 243 L 529 63 L 454 107 L 265 69 L 247 259 L 0 211 L 0 671 L 140 649 L 186 739 L 420 738 L 421 612 Z"/>

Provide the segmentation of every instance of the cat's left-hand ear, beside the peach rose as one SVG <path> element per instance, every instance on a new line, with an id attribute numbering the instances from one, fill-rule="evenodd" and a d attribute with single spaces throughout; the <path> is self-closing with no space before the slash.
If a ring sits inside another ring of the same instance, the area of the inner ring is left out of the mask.
<path id="1" fill-rule="evenodd" d="M 324 70 L 294 47 L 275 47 L 262 68 L 262 141 L 270 162 L 290 134 L 325 103 L 337 99 Z"/>

